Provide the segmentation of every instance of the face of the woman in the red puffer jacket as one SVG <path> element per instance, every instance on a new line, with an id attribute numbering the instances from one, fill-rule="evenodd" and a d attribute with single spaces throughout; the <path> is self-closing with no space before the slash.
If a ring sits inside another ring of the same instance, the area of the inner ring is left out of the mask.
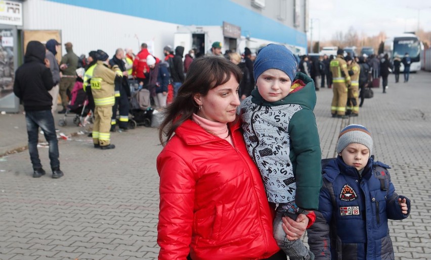
<path id="1" fill-rule="evenodd" d="M 212 122 L 234 121 L 236 108 L 240 105 L 238 88 L 238 81 L 231 75 L 228 82 L 210 89 L 205 96 L 196 94 L 194 99 L 200 107 L 197 115 Z"/>

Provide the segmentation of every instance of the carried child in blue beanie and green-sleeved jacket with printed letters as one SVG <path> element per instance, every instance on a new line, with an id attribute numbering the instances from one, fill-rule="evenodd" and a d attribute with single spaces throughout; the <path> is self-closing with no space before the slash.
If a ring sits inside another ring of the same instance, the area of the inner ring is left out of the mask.
<path id="1" fill-rule="evenodd" d="M 322 185 L 314 82 L 296 73 L 293 54 L 278 44 L 259 50 L 253 72 L 257 89 L 244 99 L 239 113 L 248 153 L 276 209 L 274 237 L 289 257 L 314 259 L 300 240 L 314 223 Z M 290 225 L 285 229 L 283 217 Z"/>

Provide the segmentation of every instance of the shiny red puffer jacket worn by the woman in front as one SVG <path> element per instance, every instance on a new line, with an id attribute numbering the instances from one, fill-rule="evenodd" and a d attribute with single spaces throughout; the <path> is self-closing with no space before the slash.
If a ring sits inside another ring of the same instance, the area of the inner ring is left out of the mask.
<path id="1" fill-rule="evenodd" d="M 159 259 L 261 259 L 277 251 L 273 216 L 240 123 L 234 146 L 184 122 L 157 157 Z"/>

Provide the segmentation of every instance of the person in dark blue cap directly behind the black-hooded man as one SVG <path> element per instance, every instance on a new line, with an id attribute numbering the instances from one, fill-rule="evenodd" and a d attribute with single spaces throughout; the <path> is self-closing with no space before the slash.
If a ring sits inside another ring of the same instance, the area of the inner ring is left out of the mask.
<path id="1" fill-rule="evenodd" d="M 61 43 L 56 39 L 50 39 L 47 41 L 45 45 L 47 48 L 46 58 L 50 61 L 50 69 L 51 74 L 53 75 L 54 87 L 48 91 L 50 95 L 53 97 L 53 106 L 51 107 L 51 112 L 54 113 L 57 111 L 58 106 L 58 92 L 60 83 L 60 66 L 58 65 L 58 61 L 55 58 L 58 51 L 60 50 Z"/>

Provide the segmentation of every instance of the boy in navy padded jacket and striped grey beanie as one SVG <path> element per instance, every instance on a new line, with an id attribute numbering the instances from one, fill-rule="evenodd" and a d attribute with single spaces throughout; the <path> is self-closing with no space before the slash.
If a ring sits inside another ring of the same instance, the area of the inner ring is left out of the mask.
<path id="1" fill-rule="evenodd" d="M 308 244 L 320 259 L 395 259 L 387 220 L 410 214 L 410 200 L 398 195 L 390 167 L 374 161 L 370 131 L 348 125 L 339 135 L 337 158 L 323 168 L 316 222 Z"/>

